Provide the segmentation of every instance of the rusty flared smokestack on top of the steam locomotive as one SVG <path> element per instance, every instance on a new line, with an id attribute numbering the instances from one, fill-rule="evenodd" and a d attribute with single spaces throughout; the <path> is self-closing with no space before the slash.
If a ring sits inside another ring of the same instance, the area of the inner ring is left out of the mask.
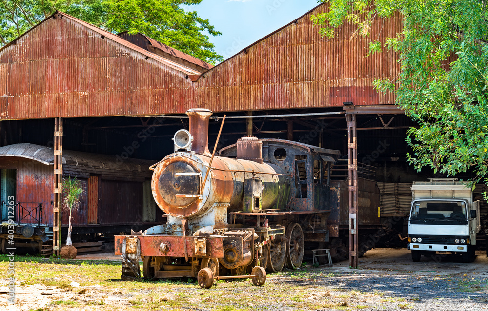
<path id="1" fill-rule="evenodd" d="M 208 150 L 208 119 L 213 114 L 208 109 L 190 109 L 186 112 L 190 117 L 190 134 L 193 136 L 191 150 L 200 155 L 211 156 Z"/>

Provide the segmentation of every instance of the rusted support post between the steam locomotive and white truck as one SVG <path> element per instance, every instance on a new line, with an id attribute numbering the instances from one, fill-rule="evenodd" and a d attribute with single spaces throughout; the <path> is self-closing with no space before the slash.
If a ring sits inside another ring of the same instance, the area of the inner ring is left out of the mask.
<path id="1" fill-rule="evenodd" d="M 358 158 L 356 141 L 356 115 L 346 114 L 347 151 L 349 158 L 349 266 L 358 266 Z"/>

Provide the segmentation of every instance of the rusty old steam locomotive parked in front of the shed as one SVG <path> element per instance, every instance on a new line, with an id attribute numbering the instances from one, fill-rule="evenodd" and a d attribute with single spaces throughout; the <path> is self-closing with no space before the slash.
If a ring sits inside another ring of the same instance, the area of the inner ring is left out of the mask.
<path id="1" fill-rule="evenodd" d="M 207 287 L 214 277 L 251 272 L 253 282 L 262 284 L 264 268 L 299 267 L 306 247 L 347 256 L 348 185 L 330 177 L 339 151 L 243 137 L 212 156 L 207 144 L 212 112 L 186 114 L 189 132 L 178 131 L 175 153 L 151 167 L 152 193 L 166 223 L 115 237 L 122 278 L 140 275 L 142 257 L 146 278 L 198 276 Z M 376 183 L 359 178 L 358 185 L 359 207 L 375 212 Z M 376 213 L 362 209 L 360 225 L 378 226 Z"/>

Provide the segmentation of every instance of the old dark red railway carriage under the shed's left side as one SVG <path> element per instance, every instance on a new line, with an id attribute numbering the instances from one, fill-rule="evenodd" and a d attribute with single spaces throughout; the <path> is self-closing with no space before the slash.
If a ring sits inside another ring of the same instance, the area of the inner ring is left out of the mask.
<path id="1" fill-rule="evenodd" d="M 53 163 L 52 148 L 28 143 L 0 147 L 1 221 L 12 219 L 15 223 L 17 248 L 44 255 L 51 254 L 53 244 Z M 114 233 L 139 231 L 161 223 L 163 213 L 151 195 L 152 163 L 63 151 L 63 176 L 77 177 L 84 188 L 81 206 L 73 211 L 72 219 L 73 242 L 79 252 L 100 250 L 103 240 L 113 238 Z M 64 237 L 66 211 L 62 213 L 62 226 Z M 0 250 L 5 253 L 9 231 L 6 226 L 0 230 Z"/>

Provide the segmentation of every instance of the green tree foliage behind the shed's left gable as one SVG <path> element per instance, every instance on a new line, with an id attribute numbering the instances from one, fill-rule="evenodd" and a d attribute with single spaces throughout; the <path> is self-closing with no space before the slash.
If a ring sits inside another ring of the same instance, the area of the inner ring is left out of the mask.
<path id="1" fill-rule="evenodd" d="M 56 10 L 70 14 L 113 33 L 129 31 L 210 63 L 222 61 L 214 44 L 204 35 L 221 35 L 197 12 L 180 6 L 202 0 L 0 0 L 0 40 L 3 45 Z"/>

